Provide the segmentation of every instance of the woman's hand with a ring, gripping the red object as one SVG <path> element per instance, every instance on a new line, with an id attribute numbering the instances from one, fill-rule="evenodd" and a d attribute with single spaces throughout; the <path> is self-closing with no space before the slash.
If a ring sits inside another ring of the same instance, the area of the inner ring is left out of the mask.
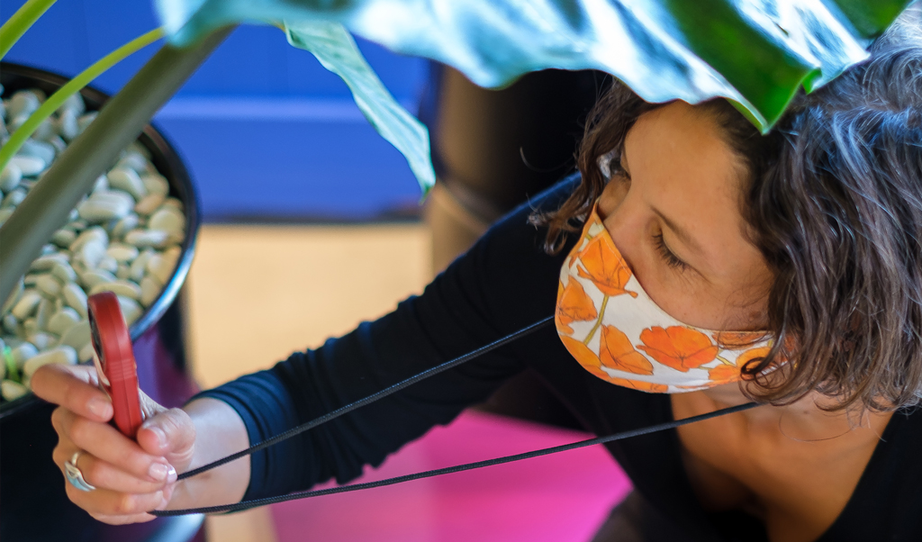
<path id="1" fill-rule="evenodd" d="M 71 501 L 107 524 L 150 521 L 149 511 L 167 507 L 176 473 L 186 470 L 195 451 L 195 425 L 183 410 L 161 407 L 141 393 L 145 421 L 132 441 L 109 425 L 112 402 L 95 368 L 46 365 L 31 385 L 35 395 L 59 405 L 52 415 L 54 463 L 64 472 L 65 461 L 79 452 L 77 467 L 96 487 L 81 491 L 65 482 Z"/>

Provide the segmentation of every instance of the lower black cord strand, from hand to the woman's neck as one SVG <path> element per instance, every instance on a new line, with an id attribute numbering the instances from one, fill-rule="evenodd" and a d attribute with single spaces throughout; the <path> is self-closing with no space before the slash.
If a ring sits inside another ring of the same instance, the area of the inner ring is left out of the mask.
<path id="1" fill-rule="evenodd" d="M 236 502 L 234 504 L 222 504 L 219 506 L 205 506 L 202 508 L 189 508 L 185 510 L 155 510 L 153 512 L 150 512 L 150 514 L 158 516 L 158 517 L 164 517 L 164 516 L 173 516 L 173 515 L 185 515 L 189 513 L 238 512 L 241 510 L 254 508 L 256 506 L 265 506 L 266 504 L 275 504 L 277 502 L 294 501 L 296 499 L 308 499 L 310 497 L 321 497 L 323 495 L 333 495 L 336 493 L 347 493 L 349 491 L 358 491 L 360 489 L 372 489 L 372 488 L 380 488 L 382 486 L 393 486 L 394 484 L 401 484 L 403 482 L 408 482 L 410 480 L 419 480 L 420 478 L 435 477 L 435 476 L 439 476 L 443 474 L 451 474 L 451 473 L 471 470 L 475 468 L 482 468 L 484 466 L 502 465 L 503 463 L 511 463 L 513 461 L 520 461 L 522 459 L 530 459 L 532 457 L 539 457 L 541 455 L 557 454 L 559 452 L 566 452 L 568 450 L 575 450 L 577 448 L 585 448 L 586 446 L 592 446 L 592 445 L 601 444 L 604 442 L 621 441 L 622 439 L 628 439 L 631 437 L 646 435 L 646 434 L 654 433 L 656 431 L 661 431 L 661 430 L 675 429 L 683 425 L 694 423 L 696 421 L 703 421 L 705 419 L 716 418 L 718 416 L 723 416 L 725 414 L 732 414 L 734 412 L 742 412 L 743 410 L 749 410 L 750 408 L 759 407 L 759 406 L 760 406 L 759 403 L 754 403 L 754 402 L 746 403 L 745 405 L 739 405 L 737 407 L 721 408 L 720 410 L 715 410 L 714 412 L 709 412 L 707 414 L 702 414 L 700 416 L 692 416 L 691 418 L 677 419 L 677 420 L 668 421 L 665 423 L 651 425 L 651 426 L 644 427 L 644 428 L 637 429 L 637 430 L 623 431 L 621 433 L 615 433 L 607 437 L 597 437 L 595 439 L 588 439 L 586 441 L 572 442 L 570 444 L 562 444 L 561 446 L 553 446 L 551 448 L 545 448 L 543 450 L 535 450 L 534 452 L 526 452 L 525 454 L 506 455 L 504 457 L 498 457 L 496 459 L 488 459 L 486 461 L 477 461 L 474 463 L 467 463 L 464 465 L 455 465 L 455 466 L 447 466 L 444 468 L 436 468 L 433 470 L 427 470 L 423 472 L 409 474 L 409 475 L 405 475 L 402 477 L 386 478 L 384 480 L 378 480 L 375 482 L 365 482 L 361 484 L 353 484 L 351 486 L 339 486 L 337 488 L 317 489 L 313 491 L 298 491 L 295 493 L 289 493 L 288 495 L 279 495 L 278 497 L 268 497 L 266 499 L 254 499 L 253 501 L 242 501 L 242 502 Z"/>

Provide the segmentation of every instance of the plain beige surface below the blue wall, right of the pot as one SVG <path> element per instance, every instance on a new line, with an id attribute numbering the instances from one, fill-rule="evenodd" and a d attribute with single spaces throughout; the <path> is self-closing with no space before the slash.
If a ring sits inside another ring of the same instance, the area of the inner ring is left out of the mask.
<path id="1" fill-rule="evenodd" d="M 271 367 L 419 293 L 421 225 L 206 226 L 189 277 L 195 377 L 213 387 Z M 273 542 L 267 509 L 207 519 L 210 542 Z"/>

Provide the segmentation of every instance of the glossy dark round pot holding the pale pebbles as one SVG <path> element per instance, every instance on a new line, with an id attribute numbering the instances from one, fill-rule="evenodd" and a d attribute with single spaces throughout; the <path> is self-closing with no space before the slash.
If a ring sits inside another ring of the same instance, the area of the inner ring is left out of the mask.
<path id="1" fill-rule="evenodd" d="M 4 95 L 41 88 L 48 95 L 67 78 L 34 68 L 3 63 Z M 108 96 L 94 88 L 81 91 L 88 111 Z M 189 173 L 176 151 L 153 126 L 138 138 L 151 161 L 170 183 L 170 193 L 185 206 L 183 254 L 160 298 L 131 326 L 141 389 L 166 407 L 177 407 L 195 393 L 185 356 L 183 283 L 192 265 L 199 204 Z M 53 406 L 26 395 L 0 406 L 0 539 L 4 542 L 187 542 L 201 539 L 202 516 L 160 518 L 146 524 L 101 524 L 67 499 L 64 477 L 52 462 L 57 435 Z"/>

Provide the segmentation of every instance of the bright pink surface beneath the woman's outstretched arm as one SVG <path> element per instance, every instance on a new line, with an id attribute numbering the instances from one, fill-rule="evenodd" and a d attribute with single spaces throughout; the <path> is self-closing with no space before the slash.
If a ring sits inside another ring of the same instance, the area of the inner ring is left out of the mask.
<path id="1" fill-rule="evenodd" d="M 435 428 L 359 481 L 589 438 L 477 412 Z M 631 489 L 602 446 L 396 486 L 272 505 L 278 542 L 561 542 L 592 537 Z"/>

